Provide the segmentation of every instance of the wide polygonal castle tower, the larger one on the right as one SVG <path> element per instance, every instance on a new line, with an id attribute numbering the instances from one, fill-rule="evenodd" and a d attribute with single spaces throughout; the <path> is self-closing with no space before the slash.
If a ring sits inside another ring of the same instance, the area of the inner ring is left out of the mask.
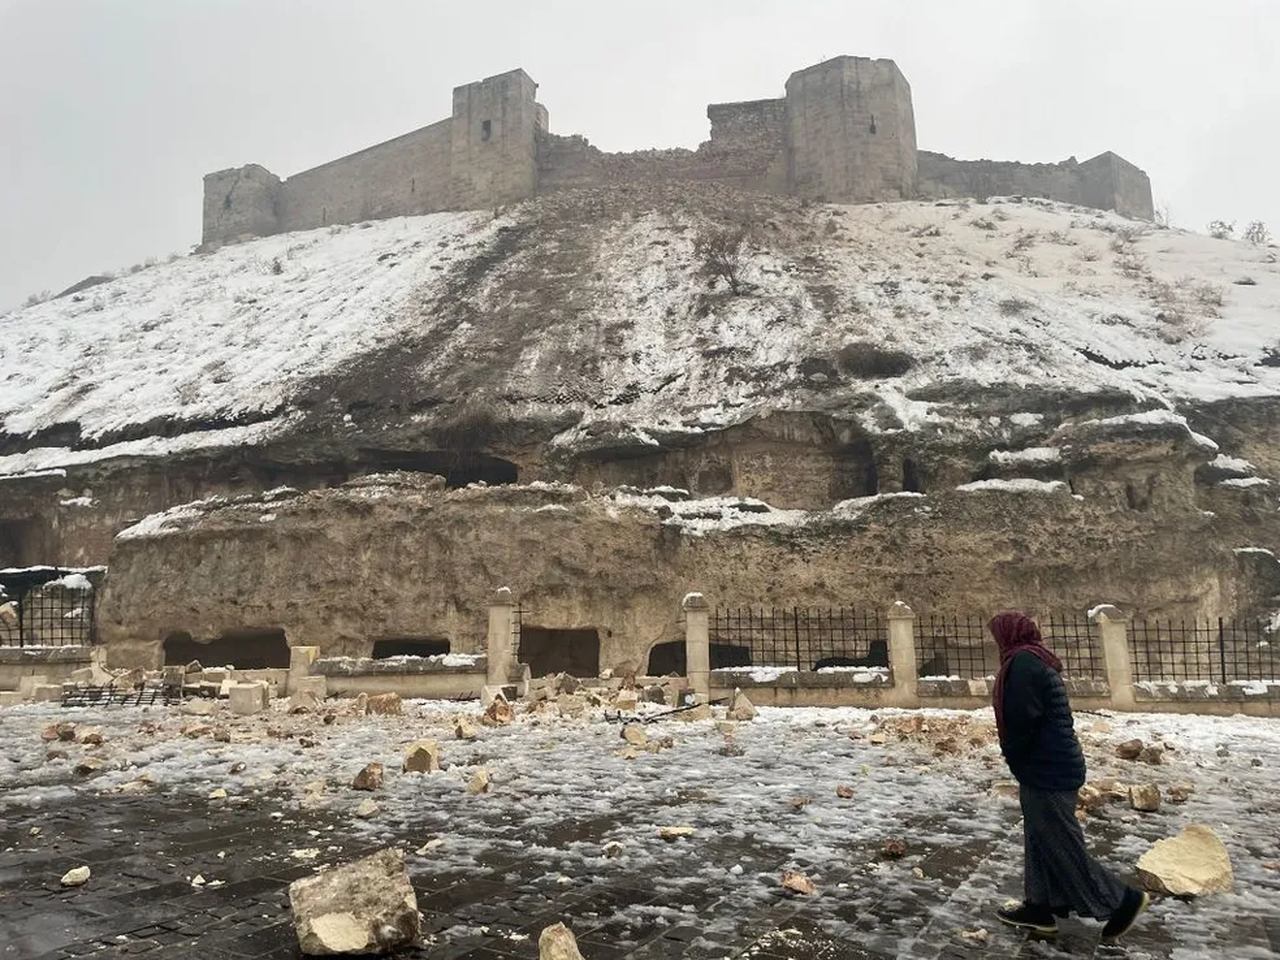
<path id="1" fill-rule="evenodd" d="M 787 79 L 787 183 L 809 200 L 915 197 L 911 87 L 892 60 L 837 56 Z"/>

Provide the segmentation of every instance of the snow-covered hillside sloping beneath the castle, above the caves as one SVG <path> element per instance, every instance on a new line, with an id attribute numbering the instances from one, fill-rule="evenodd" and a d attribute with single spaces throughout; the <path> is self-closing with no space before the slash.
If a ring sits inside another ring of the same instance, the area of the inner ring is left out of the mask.
<path id="1" fill-rule="evenodd" d="M 1018 388 L 1135 407 L 1280 394 L 1275 248 L 1048 201 L 737 196 L 589 191 L 287 234 L 12 312 L 0 474 L 302 421 L 425 430 L 479 404 L 568 410 L 554 442 L 575 445 L 602 422 L 645 443 L 769 410 L 964 430 Z M 732 296 L 695 244 L 737 221 Z"/>

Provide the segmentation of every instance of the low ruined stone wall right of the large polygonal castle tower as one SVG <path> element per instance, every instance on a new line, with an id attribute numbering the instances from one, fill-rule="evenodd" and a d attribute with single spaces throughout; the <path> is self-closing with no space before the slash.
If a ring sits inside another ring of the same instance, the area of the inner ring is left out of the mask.
<path id="1" fill-rule="evenodd" d="M 1059 164 L 1021 164 L 1011 160 L 955 160 L 922 150 L 919 191 L 927 198 L 1047 197 L 1146 220 L 1153 216 L 1147 174 L 1110 152 L 1083 164 L 1074 157 Z"/>

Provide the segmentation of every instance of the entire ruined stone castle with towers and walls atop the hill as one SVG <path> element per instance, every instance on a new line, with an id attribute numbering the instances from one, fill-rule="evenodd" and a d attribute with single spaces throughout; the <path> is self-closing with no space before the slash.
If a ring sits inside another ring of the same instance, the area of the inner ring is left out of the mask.
<path id="1" fill-rule="evenodd" d="M 521 69 L 456 87 L 451 116 L 280 179 L 257 164 L 205 177 L 205 244 L 388 216 L 498 206 L 559 189 L 718 180 L 814 201 L 1050 197 L 1151 219 L 1151 182 L 1111 152 L 1078 163 L 955 160 L 916 150 L 911 88 L 892 60 L 837 56 L 786 96 L 712 104 L 698 150 L 607 154 L 550 132 Z"/>

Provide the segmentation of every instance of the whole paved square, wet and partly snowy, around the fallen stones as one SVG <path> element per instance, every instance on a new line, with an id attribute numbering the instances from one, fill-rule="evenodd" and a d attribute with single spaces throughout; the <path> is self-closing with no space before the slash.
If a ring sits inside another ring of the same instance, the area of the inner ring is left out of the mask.
<path id="1" fill-rule="evenodd" d="M 399 777 L 379 795 L 387 815 L 367 822 L 352 819 L 347 794 L 300 804 L 297 790 L 273 785 L 273 778 L 292 783 L 289 751 L 301 756 L 307 750 L 288 737 L 279 741 L 280 754 L 260 755 L 248 746 L 197 754 L 207 777 L 198 787 L 174 777 L 172 788 L 161 780 L 155 792 L 128 796 L 77 782 L 68 795 L 59 777 L 46 778 L 44 794 L 13 790 L 20 803 L 3 809 L 0 959 L 296 957 L 289 881 L 319 863 L 340 863 L 385 844 L 420 851 L 410 856 L 410 867 L 429 937 L 404 954 L 412 957 L 536 957 L 539 931 L 557 920 L 575 931 L 588 960 L 1280 956 L 1280 874 L 1258 865 L 1280 844 L 1277 800 L 1260 788 L 1274 776 L 1266 764 L 1280 769 L 1280 753 L 1240 753 L 1266 746 L 1280 733 L 1276 724 L 1240 726 L 1243 744 L 1236 727 L 1221 726 L 1204 741 L 1231 740 L 1235 750 L 1213 758 L 1217 767 L 1197 790 L 1216 788 L 1222 796 L 1198 813 L 1219 818 L 1215 826 L 1229 835 L 1239 886 L 1247 890 L 1216 904 L 1166 900 L 1124 948 L 1114 948 L 1098 946 L 1094 924 L 1069 923 L 1056 943 L 1028 941 L 992 924 L 989 911 L 1019 892 L 1020 838 L 1016 808 L 972 788 L 992 776 L 989 750 L 942 756 L 918 742 L 870 745 L 850 740 L 844 730 L 837 736 L 835 727 L 849 718 L 865 722 L 865 712 L 858 713 L 771 712 L 739 733 L 740 746 L 731 751 L 709 723 L 681 724 L 676 748 L 636 760 L 614 756 L 616 728 L 599 722 L 485 731 L 480 744 L 467 748 L 476 755 L 458 758 L 454 780 L 463 782 L 462 760 L 467 769 L 481 760 L 495 772 L 492 795 L 467 797 L 452 788 L 447 773 Z M 13 753 L 47 719 L 0 718 L 5 748 Z M 123 731 L 137 721 L 116 710 L 104 728 Z M 346 733 L 333 735 L 334 746 L 349 749 L 367 744 L 371 733 L 424 722 L 430 721 L 351 721 Z M 1249 740 L 1256 730 L 1266 736 Z M 521 760 L 534 739 L 539 753 L 527 758 L 526 769 Z M 607 754 L 591 753 L 602 744 L 609 746 Z M 165 755 L 188 763 L 195 749 L 179 742 Z M 229 774 L 237 755 L 266 765 L 266 776 L 256 778 L 261 788 L 237 788 L 239 781 Z M 362 759 L 344 759 L 334 780 Z M 832 768 L 818 783 L 815 760 Z M 1184 762 L 1188 769 L 1213 765 L 1190 756 Z M 165 769 L 161 760 L 147 765 Z M 10 783 L 20 776 L 22 764 L 15 767 Z M 828 804 L 828 781 L 845 780 L 859 796 L 844 806 L 832 796 Z M 0 791 L 4 782 L 0 777 Z M 232 786 L 230 800 L 196 794 L 219 782 Z M 575 803 L 559 788 L 576 791 L 584 782 L 596 782 L 613 799 L 595 803 L 582 792 Z M 800 809 L 787 801 L 797 782 L 814 787 Z M 623 788 L 625 804 L 617 792 Z M 1224 815 L 1245 818 L 1235 826 L 1247 828 L 1234 831 Z M 1165 822 L 1133 818 L 1117 812 L 1091 820 L 1091 844 L 1123 864 L 1144 842 L 1135 832 L 1162 836 L 1179 822 L 1166 814 L 1157 815 Z M 695 838 L 664 844 L 653 837 L 654 824 L 677 822 L 696 826 Z M 905 859 L 879 858 L 887 827 L 908 841 Z M 630 840 L 627 854 L 602 856 L 602 844 L 618 838 Z M 92 869 L 90 883 L 61 890 L 59 877 L 81 864 Z M 785 893 L 777 884 L 782 867 L 814 877 L 818 896 Z M 216 886 L 192 886 L 196 876 Z M 986 943 L 960 936 L 979 927 L 989 932 Z"/>

